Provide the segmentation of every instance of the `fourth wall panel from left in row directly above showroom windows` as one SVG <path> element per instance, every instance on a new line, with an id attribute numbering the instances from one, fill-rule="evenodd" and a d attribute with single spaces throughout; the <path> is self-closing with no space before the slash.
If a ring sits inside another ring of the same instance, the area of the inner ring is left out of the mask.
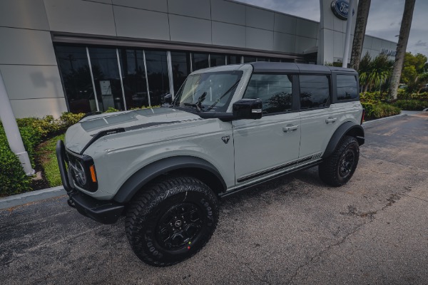
<path id="1" fill-rule="evenodd" d="M 245 26 L 213 22 L 213 45 L 245 48 Z"/>

